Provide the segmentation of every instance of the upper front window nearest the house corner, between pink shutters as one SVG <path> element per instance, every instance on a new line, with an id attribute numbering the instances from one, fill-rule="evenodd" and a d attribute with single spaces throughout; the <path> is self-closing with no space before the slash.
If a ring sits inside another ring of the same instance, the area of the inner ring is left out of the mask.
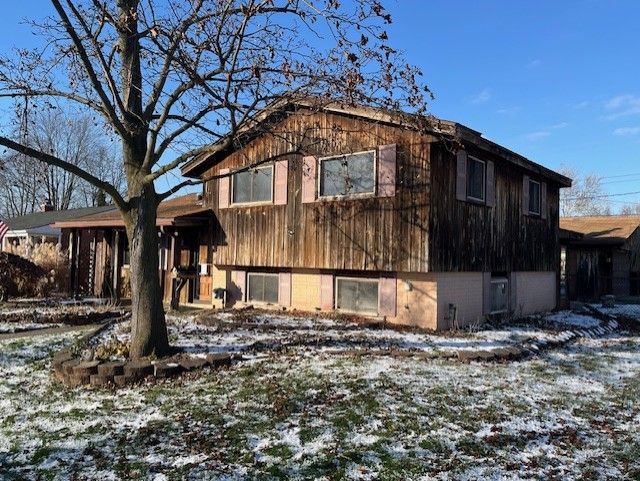
<path id="1" fill-rule="evenodd" d="M 320 197 L 375 193 L 375 164 L 373 150 L 320 159 Z"/>

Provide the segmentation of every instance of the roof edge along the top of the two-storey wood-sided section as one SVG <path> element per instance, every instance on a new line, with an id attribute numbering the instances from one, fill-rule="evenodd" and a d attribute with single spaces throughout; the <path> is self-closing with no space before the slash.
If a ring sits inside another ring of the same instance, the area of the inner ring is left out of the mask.
<path id="1" fill-rule="evenodd" d="M 439 119 L 434 116 L 418 116 L 377 107 L 354 106 L 338 101 L 323 101 L 323 99 L 307 98 L 303 100 L 291 99 L 284 102 L 275 102 L 272 107 L 258 113 L 252 125 L 245 127 L 238 133 L 238 136 L 242 140 L 239 144 L 246 144 L 247 141 L 259 137 L 265 131 L 265 129 L 262 128 L 265 124 L 268 125 L 274 120 L 281 120 L 283 116 L 291 115 L 301 110 L 346 115 L 406 129 L 437 133 L 449 138 L 458 138 L 463 143 L 473 144 L 482 150 L 496 154 L 513 164 L 550 179 L 561 187 L 571 187 L 571 179 L 568 177 L 529 160 L 500 144 L 488 140 L 482 136 L 481 132 L 458 122 Z M 222 146 L 227 140 L 228 138 L 223 138 L 216 145 Z M 239 148 L 241 147 L 232 145 L 229 148 L 218 150 L 215 153 L 200 154 L 187 162 L 182 167 L 181 173 L 186 177 L 198 177 L 204 173 L 206 169 L 219 163 L 225 157 L 239 150 Z"/>

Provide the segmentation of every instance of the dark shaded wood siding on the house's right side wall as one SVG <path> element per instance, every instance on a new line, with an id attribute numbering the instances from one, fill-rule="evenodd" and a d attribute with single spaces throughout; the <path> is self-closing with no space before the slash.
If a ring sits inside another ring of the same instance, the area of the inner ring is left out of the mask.
<path id="1" fill-rule="evenodd" d="M 559 187 L 547 186 L 547 219 L 523 215 L 523 175 L 545 182 L 493 155 L 495 207 L 456 199 L 456 155 L 432 145 L 429 267 L 431 271 L 552 271 L 559 264 Z"/>

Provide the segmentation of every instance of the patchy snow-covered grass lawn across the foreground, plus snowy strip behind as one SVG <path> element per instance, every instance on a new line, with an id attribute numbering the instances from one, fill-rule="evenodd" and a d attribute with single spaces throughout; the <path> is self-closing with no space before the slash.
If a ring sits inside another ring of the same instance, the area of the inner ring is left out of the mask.
<path id="1" fill-rule="evenodd" d="M 233 334 L 184 318 L 171 319 L 171 330 L 194 350 L 222 350 L 300 330 L 279 319 L 279 330 Z M 362 330 L 331 320 L 307 328 L 312 337 L 362 341 Z M 392 332 L 368 331 L 383 343 L 476 342 Z M 116 392 L 52 380 L 50 354 L 76 336 L 0 342 L 1 479 L 640 477 L 640 337 L 633 335 L 501 364 L 297 346 Z"/>

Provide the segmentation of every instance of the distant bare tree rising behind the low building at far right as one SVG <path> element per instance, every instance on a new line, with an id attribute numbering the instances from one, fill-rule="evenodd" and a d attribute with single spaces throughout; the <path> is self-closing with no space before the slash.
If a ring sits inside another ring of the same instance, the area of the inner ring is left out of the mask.
<path id="1" fill-rule="evenodd" d="M 560 189 L 560 215 L 563 217 L 610 215 L 611 203 L 602 188 L 602 179 L 595 174 L 582 175 L 570 167 L 560 173 L 573 179 L 568 189 Z"/>

